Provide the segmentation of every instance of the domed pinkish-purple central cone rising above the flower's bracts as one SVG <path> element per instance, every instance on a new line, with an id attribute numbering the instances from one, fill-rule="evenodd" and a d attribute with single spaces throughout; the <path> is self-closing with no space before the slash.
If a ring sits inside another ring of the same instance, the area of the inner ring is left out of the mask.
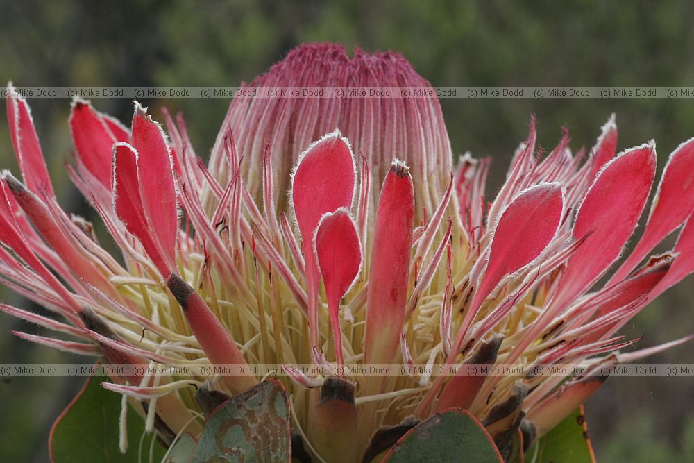
<path id="1" fill-rule="evenodd" d="M 406 99 L 401 87 L 426 92 Z M 222 181 L 228 175 L 224 140 L 232 133 L 248 192 L 260 203 L 263 158 L 269 149 L 276 212 L 289 207 L 289 173 L 301 153 L 336 128 L 355 147 L 357 165 L 368 167 L 363 175 L 370 185 L 380 185 L 394 159 L 412 167 L 418 217 L 424 208 L 436 207 L 446 191 L 452 152 L 439 101 L 429 83 L 398 53 L 372 55 L 357 49 L 349 58 L 337 45 L 303 45 L 244 88 L 242 94 L 255 97 L 238 96 L 231 103 L 212 150 L 210 171 Z M 302 97 L 281 96 L 290 89 Z M 266 97 L 271 91 L 276 96 Z M 311 92 L 322 92 L 323 97 L 303 97 Z M 372 205 L 378 193 L 378 187 L 371 189 Z"/>

